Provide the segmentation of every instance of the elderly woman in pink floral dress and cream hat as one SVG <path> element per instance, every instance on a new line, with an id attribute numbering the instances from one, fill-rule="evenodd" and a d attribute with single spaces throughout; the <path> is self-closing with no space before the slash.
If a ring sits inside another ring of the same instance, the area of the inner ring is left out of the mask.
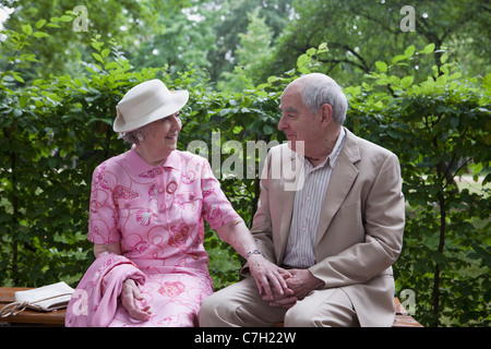
<path id="1" fill-rule="evenodd" d="M 113 130 L 133 143 L 93 176 L 88 239 L 96 261 L 68 306 L 67 326 L 194 326 L 213 292 L 206 220 L 248 260 L 259 290 L 282 292 L 285 273 L 258 250 L 208 163 L 176 149 L 185 91 L 152 80 L 117 106 Z"/>

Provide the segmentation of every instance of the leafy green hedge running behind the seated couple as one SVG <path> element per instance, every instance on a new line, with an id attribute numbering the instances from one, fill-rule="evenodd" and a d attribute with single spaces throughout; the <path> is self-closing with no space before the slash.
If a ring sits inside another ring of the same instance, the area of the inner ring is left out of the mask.
<path id="1" fill-rule="evenodd" d="M 326 45 L 309 49 L 294 70 L 258 86 L 238 68 L 244 88 L 230 93 L 217 92 L 192 67 L 176 74 L 166 67 L 134 71 L 116 43 L 107 47 L 95 36 L 94 60 L 81 63 L 84 74 L 27 84 L 22 72 L 36 61 L 28 45 L 44 39 L 43 27 L 52 23 L 4 31 L 1 43 L 0 59 L 8 67 L 0 74 L 2 285 L 76 285 L 93 261 L 86 239 L 92 172 L 128 149 L 111 130 L 115 106 L 149 79 L 190 92 L 179 148 L 202 141 L 202 155 L 250 225 L 259 181 L 247 176 L 248 164 L 259 167 L 261 152 L 241 149 L 283 142 L 276 129 L 279 95 L 299 74 L 321 67 L 316 56 L 328 52 Z M 408 206 L 395 276 L 398 292 L 415 291 L 416 317 L 426 325 L 489 325 L 491 76 L 464 79 L 443 55 L 427 80 L 415 81 L 417 62 L 432 55 L 431 45 L 421 51 L 411 46 L 391 62 L 378 62 L 378 71 L 360 85 L 346 87 L 347 127 L 400 159 Z M 475 190 L 459 184 L 464 174 L 476 180 Z M 209 229 L 205 248 L 215 287 L 237 281 L 237 253 Z"/>

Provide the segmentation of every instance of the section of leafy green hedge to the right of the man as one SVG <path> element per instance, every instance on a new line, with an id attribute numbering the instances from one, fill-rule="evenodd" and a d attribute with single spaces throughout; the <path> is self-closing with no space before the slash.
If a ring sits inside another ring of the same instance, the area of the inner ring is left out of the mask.
<path id="1" fill-rule="evenodd" d="M 415 291 L 419 320 L 489 324 L 491 75 L 463 79 L 443 55 L 427 80 L 415 82 L 414 65 L 433 48 L 411 46 L 390 64 L 378 62 L 367 83 L 348 88 L 348 119 L 399 156 L 410 207 L 395 272 L 398 288 Z M 463 176 L 478 190 L 459 185 Z"/>

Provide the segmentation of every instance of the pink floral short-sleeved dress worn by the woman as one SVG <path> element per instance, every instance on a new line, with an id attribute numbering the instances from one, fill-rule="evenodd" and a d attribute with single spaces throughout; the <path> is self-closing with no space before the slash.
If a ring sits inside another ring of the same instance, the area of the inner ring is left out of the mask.
<path id="1" fill-rule="evenodd" d="M 118 304 L 110 326 L 194 326 L 212 294 L 204 222 L 219 228 L 239 217 L 202 157 L 175 151 L 153 167 L 134 151 L 94 171 L 88 239 L 120 242 L 146 276 L 141 287 L 152 318 L 132 320 Z"/>

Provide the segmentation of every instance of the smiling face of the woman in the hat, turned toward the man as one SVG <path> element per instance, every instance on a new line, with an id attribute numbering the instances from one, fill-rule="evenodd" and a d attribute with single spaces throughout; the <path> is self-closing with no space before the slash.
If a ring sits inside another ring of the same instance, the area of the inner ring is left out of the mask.
<path id="1" fill-rule="evenodd" d="M 145 137 L 139 143 L 141 156 L 151 165 L 156 165 L 169 157 L 177 148 L 177 140 L 182 122 L 179 111 L 147 125 Z"/>

